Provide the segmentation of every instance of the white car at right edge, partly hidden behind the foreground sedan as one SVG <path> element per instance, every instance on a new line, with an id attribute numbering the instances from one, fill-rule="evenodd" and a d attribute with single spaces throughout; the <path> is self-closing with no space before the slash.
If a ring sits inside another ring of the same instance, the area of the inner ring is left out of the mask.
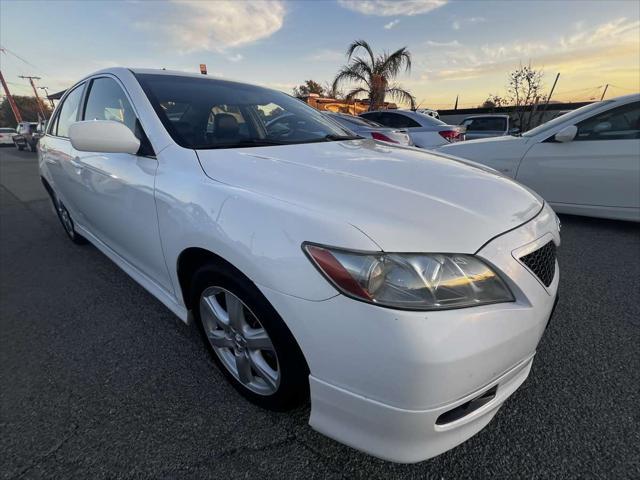
<path id="1" fill-rule="evenodd" d="M 640 94 L 592 103 L 521 137 L 440 151 L 515 178 L 557 212 L 640 221 Z"/>

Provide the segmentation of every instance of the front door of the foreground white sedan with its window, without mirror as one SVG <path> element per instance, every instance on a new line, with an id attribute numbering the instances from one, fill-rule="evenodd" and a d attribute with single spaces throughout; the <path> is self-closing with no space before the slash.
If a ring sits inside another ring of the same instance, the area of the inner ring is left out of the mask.
<path id="1" fill-rule="evenodd" d="M 91 80 L 84 120 L 113 120 L 135 133 L 137 116 L 122 86 L 112 77 Z M 111 250 L 170 290 L 154 198 L 158 162 L 128 153 L 80 152 L 83 199 L 79 205 L 87 229 Z"/>

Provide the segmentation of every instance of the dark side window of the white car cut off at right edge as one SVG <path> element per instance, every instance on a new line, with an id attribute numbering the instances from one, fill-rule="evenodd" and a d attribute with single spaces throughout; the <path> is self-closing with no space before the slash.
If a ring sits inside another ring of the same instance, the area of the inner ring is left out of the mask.
<path id="1" fill-rule="evenodd" d="M 613 108 L 577 124 L 575 140 L 631 140 L 640 138 L 640 102 Z"/>

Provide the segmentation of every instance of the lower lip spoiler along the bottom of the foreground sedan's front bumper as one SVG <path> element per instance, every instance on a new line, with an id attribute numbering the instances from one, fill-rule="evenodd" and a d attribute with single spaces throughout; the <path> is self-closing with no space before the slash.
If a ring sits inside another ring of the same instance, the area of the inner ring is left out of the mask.
<path id="1" fill-rule="evenodd" d="M 459 400 L 426 410 L 394 408 L 310 377 L 312 410 L 309 424 L 346 445 L 384 460 L 414 463 L 435 457 L 482 430 L 502 403 L 525 381 L 533 356 L 523 360 L 482 389 Z M 497 387 L 488 403 L 445 424 L 438 419 Z"/>

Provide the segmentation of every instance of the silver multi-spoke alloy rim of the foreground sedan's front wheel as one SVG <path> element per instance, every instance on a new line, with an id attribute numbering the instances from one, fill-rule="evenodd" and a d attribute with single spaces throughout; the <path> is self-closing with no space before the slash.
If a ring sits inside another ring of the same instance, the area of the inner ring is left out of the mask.
<path id="1" fill-rule="evenodd" d="M 200 297 L 200 317 L 213 351 L 243 386 L 272 395 L 280 385 L 280 364 L 269 334 L 236 295 L 209 287 Z"/>

